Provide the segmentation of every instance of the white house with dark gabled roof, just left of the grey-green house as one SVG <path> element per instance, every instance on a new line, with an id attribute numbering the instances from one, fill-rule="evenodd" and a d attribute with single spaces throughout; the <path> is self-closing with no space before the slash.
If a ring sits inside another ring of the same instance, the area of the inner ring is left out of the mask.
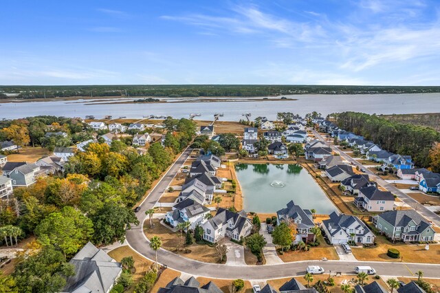
<path id="1" fill-rule="evenodd" d="M 322 228 L 332 244 L 349 241 L 372 244 L 375 235 L 358 217 L 333 212 L 330 219 L 322 220 Z"/>

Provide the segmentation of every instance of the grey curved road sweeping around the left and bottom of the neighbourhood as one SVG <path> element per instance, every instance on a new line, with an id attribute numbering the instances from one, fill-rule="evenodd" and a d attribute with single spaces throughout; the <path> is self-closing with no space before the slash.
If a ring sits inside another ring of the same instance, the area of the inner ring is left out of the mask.
<path id="1" fill-rule="evenodd" d="M 131 230 L 126 232 L 126 241 L 129 246 L 137 253 L 147 259 L 155 259 L 155 253 L 148 246 L 143 230 L 143 222 L 146 218 L 145 210 L 153 208 L 159 197 L 166 190 L 168 184 L 173 180 L 180 167 L 188 156 L 190 149 L 186 149 L 184 153 L 177 159 L 175 164 L 168 169 L 162 180 L 153 188 L 153 191 L 144 199 L 140 205 L 141 209 L 137 212 L 137 219 L 140 224 L 132 226 Z M 354 274 L 356 265 L 370 265 L 377 271 L 377 274 L 386 276 L 415 276 L 418 270 L 423 271 L 426 278 L 440 278 L 440 265 L 424 264 L 424 263 L 386 263 L 386 262 L 360 262 L 360 261 L 298 261 L 293 263 L 281 263 L 276 265 L 219 265 L 215 263 L 203 263 L 193 259 L 187 259 L 181 255 L 175 254 L 168 250 L 160 249 L 157 252 L 159 263 L 168 265 L 168 268 L 192 274 L 195 276 L 206 276 L 214 279 L 245 279 L 245 280 L 267 280 L 278 279 L 289 276 L 297 276 L 305 274 L 305 268 L 309 264 L 318 264 L 325 268 L 326 272 L 342 274 Z"/>

